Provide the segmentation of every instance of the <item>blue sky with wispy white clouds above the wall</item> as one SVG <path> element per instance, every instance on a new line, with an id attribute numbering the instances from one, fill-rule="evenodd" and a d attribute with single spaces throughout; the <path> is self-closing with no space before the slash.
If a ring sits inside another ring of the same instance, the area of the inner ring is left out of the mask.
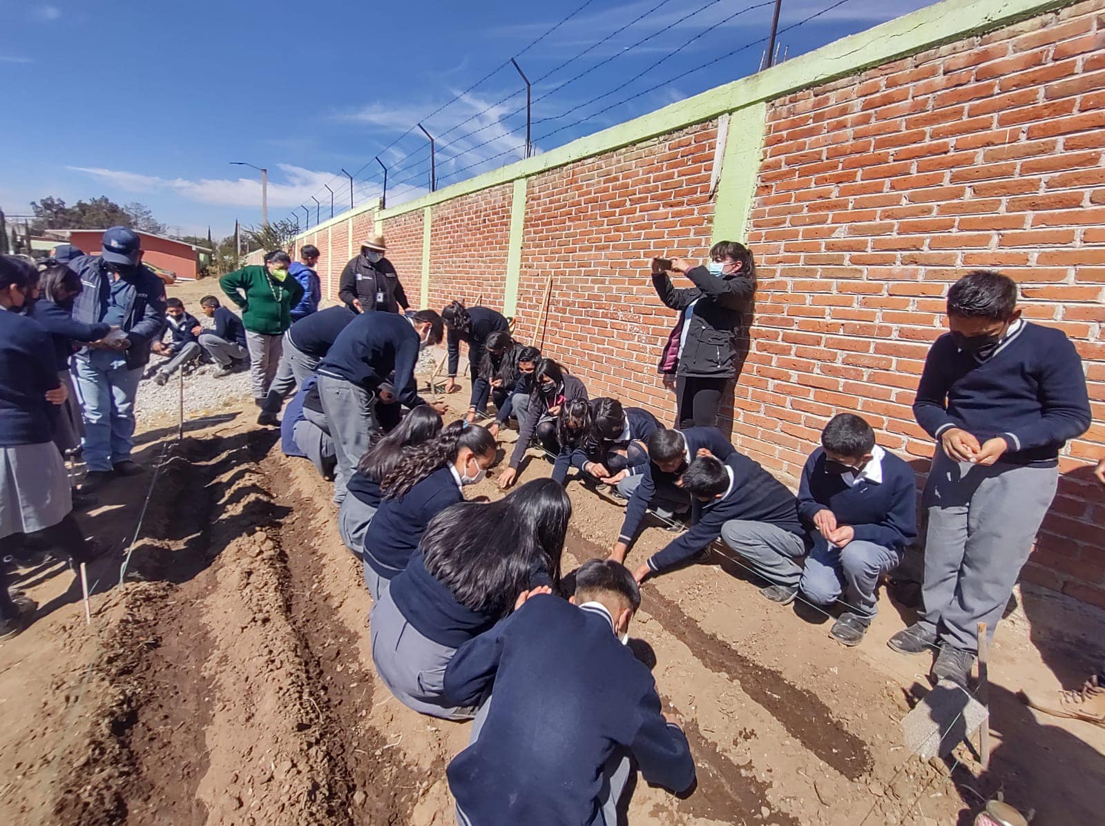
<path id="1" fill-rule="evenodd" d="M 783 0 L 780 29 L 838 2 Z M 780 43 L 792 57 L 929 3 L 844 0 Z M 343 167 L 358 203 L 379 194 L 376 155 L 390 201 L 425 191 L 428 144 L 404 135 L 419 120 L 438 138 L 439 187 L 520 158 L 511 56 L 534 83 L 543 151 L 756 71 L 771 15 L 766 0 L 581 6 L 0 0 L 0 208 L 106 194 L 223 235 L 260 222 L 257 173 L 230 166 L 242 160 L 270 170 L 271 220 L 307 204 L 314 224 L 324 184 L 348 206 Z"/>

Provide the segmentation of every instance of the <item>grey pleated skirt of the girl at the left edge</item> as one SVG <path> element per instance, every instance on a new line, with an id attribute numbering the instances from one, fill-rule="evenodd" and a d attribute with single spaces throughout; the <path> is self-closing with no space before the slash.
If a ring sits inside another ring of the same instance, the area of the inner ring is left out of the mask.
<path id="1" fill-rule="evenodd" d="M 50 528 L 72 510 L 73 493 L 57 445 L 0 447 L 0 539 Z"/>

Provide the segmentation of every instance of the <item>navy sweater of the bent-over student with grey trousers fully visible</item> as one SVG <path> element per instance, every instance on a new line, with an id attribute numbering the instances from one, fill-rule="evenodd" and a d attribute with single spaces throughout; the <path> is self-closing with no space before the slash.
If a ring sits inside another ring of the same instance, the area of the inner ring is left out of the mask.
<path id="1" fill-rule="evenodd" d="M 418 354 L 418 333 L 406 316 L 361 313 L 338 333 L 318 372 L 372 391 L 394 371 L 396 395 L 408 407 L 415 407 L 424 404 L 414 383 Z"/>

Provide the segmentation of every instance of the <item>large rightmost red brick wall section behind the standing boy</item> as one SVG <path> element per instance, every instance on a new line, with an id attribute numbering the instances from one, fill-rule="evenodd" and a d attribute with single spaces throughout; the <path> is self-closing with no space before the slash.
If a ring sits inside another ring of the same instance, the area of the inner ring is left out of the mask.
<path id="1" fill-rule="evenodd" d="M 1105 2 L 1093 0 L 775 102 L 750 242 L 760 264 L 736 442 L 798 474 L 825 420 L 866 416 L 918 472 L 911 404 L 975 267 L 1086 360 L 1097 424 L 1062 480 L 1025 578 L 1105 606 Z"/>

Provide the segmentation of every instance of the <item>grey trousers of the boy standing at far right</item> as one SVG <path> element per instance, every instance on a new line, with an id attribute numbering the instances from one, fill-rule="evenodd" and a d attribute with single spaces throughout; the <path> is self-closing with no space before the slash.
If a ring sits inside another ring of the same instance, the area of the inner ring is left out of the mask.
<path id="1" fill-rule="evenodd" d="M 993 636 L 1057 485 L 1055 465 L 981 467 L 937 448 L 922 497 L 928 534 L 918 625 L 970 653 L 978 623 Z"/>

